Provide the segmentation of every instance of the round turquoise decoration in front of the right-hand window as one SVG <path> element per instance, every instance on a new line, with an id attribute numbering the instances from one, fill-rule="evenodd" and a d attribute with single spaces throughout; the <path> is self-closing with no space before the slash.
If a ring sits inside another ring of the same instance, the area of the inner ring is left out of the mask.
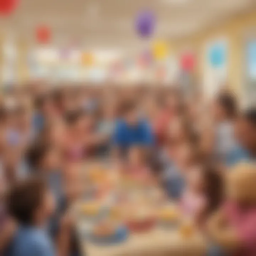
<path id="1" fill-rule="evenodd" d="M 225 45 L 221 43 L 214 44 L 209 50 L 209 60 L 215 68 L 222 66 L 226 61 Z"/>

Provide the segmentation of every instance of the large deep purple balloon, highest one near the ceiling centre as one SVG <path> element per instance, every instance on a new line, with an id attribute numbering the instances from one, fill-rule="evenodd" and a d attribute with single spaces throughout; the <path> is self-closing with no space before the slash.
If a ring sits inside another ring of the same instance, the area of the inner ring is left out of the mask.
<path id="1" fill-rule="evenodd" d="M 140 36 L 150 37 L 154 31 L 155 17 L 151 11 L 142 11 L 138 14 L 136 28 Z"/>

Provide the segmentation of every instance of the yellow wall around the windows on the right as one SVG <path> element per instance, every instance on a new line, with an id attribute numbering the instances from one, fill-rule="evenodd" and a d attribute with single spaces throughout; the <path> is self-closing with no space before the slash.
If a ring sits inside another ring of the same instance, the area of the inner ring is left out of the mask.
<path id="1" fill-rule="evenodd" d="M 227 83 L 240 95 L 244 75 L 244 42 L 246 35 L 253 31 L 256 31 L 256 11 L 236 15 L 228 21 L 219 22 L 219 25 L 208 28 L 207 31 L 172 42 L 172 49 L 177 54 L 187 47 L 194 50 L 197 58 L 196 77 L 202 82 L 203 55 L 207 42 L 225 37 L 228 40 Z"/>

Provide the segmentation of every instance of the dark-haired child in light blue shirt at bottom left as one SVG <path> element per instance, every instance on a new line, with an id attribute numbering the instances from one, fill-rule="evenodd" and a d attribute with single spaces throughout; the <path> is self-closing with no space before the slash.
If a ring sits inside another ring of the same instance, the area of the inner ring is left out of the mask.
<path id="1" fill-rule="evenodd" d="M 55 255 L 44 231 L 52 212 L 52 199 L 43 181 L 33 178 L 14 185 L 7 196 L 7 209 L 18 224 L 7 255 Z"/>

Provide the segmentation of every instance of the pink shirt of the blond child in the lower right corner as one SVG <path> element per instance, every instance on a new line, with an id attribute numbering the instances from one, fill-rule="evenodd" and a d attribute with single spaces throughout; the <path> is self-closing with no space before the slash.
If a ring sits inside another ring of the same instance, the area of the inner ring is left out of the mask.
<path id="1" fill-rule="evenodd" d="M 230 224 L 237 230 L 242 249 L 238 256 L 256 255 L 256 206 L 247 209 L 241 208 L 235 202 L 227 202 L 224 210 Z"/>

